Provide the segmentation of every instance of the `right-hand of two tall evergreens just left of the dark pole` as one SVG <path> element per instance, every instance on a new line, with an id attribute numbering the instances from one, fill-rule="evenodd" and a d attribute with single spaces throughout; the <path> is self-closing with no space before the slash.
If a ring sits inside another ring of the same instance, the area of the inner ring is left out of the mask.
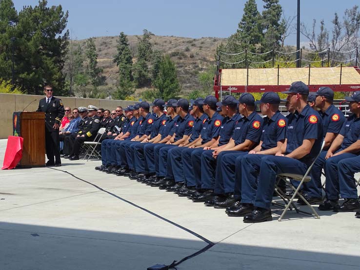
<path id="1" fill-rule="evenodd" d="M 264 38 L 262 41 L 263 50 L 268 52 L 280 47 L 281 36 L 285 31 L 285 21 L 281 20 L 282 7 L 279 0 L 263 0 L 265 2 L 262 11 L 262 28 Z"/>

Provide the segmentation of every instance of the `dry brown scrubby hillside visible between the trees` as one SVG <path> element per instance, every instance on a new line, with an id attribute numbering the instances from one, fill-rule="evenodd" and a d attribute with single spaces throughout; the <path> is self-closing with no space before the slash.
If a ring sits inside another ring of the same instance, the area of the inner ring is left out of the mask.
<path id="1" fill-rule="evenodd" d="M 115 37 L 97 37 L 95 44 L 99 54 L 98 64 L 103 68 L 103 75 L 110 77 L 106 80 L 106 86 L 109 89 L 116 88 L 118 68 L 113 63 L 113 56 L 116 54 Z M 137 36 L 128 36 L 130 48 L 136 55 L 138 43 Z M 186 95 L 194 89 L 200 89 L 198 74 L 204 71 L 209 65 L 215 65 L 216 47 L 225 39 L 219 38 L 201 38 L 190 39 L 180 37 L 152 36 L 153 49 L 160 50 L 169 54 L 178 67 L 178 77 L 181 84 L 181 95 Z M 79 40 L 81 47 L 85 46 L 86 40 Z M 139 95 L 142 89 L 138 89 L 136 95 Z"/>

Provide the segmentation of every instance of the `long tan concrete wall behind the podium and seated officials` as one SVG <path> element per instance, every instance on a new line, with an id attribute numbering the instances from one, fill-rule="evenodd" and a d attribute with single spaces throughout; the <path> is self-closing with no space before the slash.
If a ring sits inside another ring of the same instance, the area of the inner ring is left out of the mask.
<path id="1" fill-rule="evenodd" d="M 15 95 L 15 94 L 0 94 L 0 139 L 7 138 L 13 133 L 13 112 L 21 112 L 26 105 L 28 105 L 34 99 L 37 99 L 31 103 L 25 111 L 34 112 L 38 109 L 39 100 L 44 96 L 35 95 Z M 117 106 L 126 107 L 127 105 L 134 104 L 135 101 L 125 100 L 110 100 L 110 99 L 95 99 L 95 98 L 81 98 L 81 97 L 60 97 L 64 106 L 69 106 L 71 109 L 80 106 L 87 107 L 88 105 L 94 105 L 98 108 L 104 108 L 105 110 L 115 110 Z"/>

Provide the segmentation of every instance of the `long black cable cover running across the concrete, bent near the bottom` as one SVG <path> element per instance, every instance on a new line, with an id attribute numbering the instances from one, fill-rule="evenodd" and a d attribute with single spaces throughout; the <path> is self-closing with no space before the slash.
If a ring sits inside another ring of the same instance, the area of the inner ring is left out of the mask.
<path id="1" fill-rule="evenodd" d="M 184 262 L 184 261 L 186 261 L 186 260 L 188 260 L 188 259 L 191 259 L 191 258 L 193 258 L 193 257 L 201 254 L 201 253 L 204 252 L 204 251 L 207 251 L 208 249 L 210 249 L 212 246 L 215 245 L 213 242 L 211 242 L 210 240 L 208 240 L 208 239 L 206 239 L 205 237 L 201 236 L 200 234 L 196 233 L 195 231 L 191 231 L 191 230 L 189 230 L 189 229 L 187 229 L 187 228 L 185 228 L 185 227 L 183 227 L 183 226 L 181 226 L 181 225 L 179 225 L 179 224 L 177 224 L 177 223 L 175 223 L 175 222 L 173 222 L 173 221 L 171 221 L 171 220 L 168 220 L 167 218 L 164 218 L 164 217 L 162 217 L 162 216 L 160 216 L 160 215 L 158 215 L 158 214 L 156 214 L 156 213 L 154 213 L 154 212 L 151 212 L 150 210 L 147 210 L 147 209 L 145 209 L 145 208 L 143 208 L 143 207 L 141 207 L 141 206 L 139 206 L 139 205 L 137 205 L 137 204 L 135 204 L 135 203 L 132 203 L 132 202 L 130 202 L 130 201 L 128 201 L 128 200 L 125 200 L 124 198 L 121 198 L 120 196 L 118 196 L 118 195 L 116 195 L 116 194 L 114 194 L 114 193 L 111 193 L 111 192 L 109 192 L 109 191 L 106 191 L 106 190 L 100 188 L 99 186 L 97 186 L 97 185 L 89 182 L 89 181 L 86 181 L 86 180 L 84 180 L 84 179 L 79 178 L 78 176 L 76 176 L 76 175 L 74 175 L 74 174 L 71 174 L 71 173 L 69 173 L 69 172 L 67 172 L 67 171 L 55 169 L 55 168 L 50 168 L 50 167 L 49 167 L 49 169 L 52 169 L 52 170 L 55 170 L 55 171 L 59 171 L 59 172 L 63 172 L 63 173 L 66 173 L 66 174 L 70 174 L 70 175 L 73 176 L 74 178 L 76 178 L 76 179 L 78 179 L 78 180 L 80 180 L 80 181 L 82 181 L 82 182 L 85 182 L 85 183 L 87 183 L 87 184 L 89 184 L 89 185 L 92 185 L 93 187 L 95 187 L 96 189 L 98 189 L 98 190 L 100 190 L 100 191 L 102 191 L 102 192 L 104 192 L 104 193 L 108 193 L 109 195 L 111 195 L 111 196 L 113 196 L 113 197 L 115 197 L 115 198 L 117 198 L 117 199 L 119 199 L 119 200 L 121 200 L 121 201 L 123 201 L 123 202 L 126 202 L 126 203 L 128 203 L 128 204 L 130 204 L 130 205 L 132 205 L 132 206 L 134 206 L 134 207 L 136 207 L 136 208 L 141 209 L 142 211 L 145 211 L 145 212 L 147 212 L 147 213 L 149 213 L 149 214 L 151 214 L 151 215 L 153 215 L 153 216 L 156 216 L 156 217 L 162 219 L 163 221 L 166 221 L 166 222 L 168 222 L 168 223 L 170 223 L 170 224 L 172 224 L 172 225 L 180 228 L 181 230 L 184 230 L 184 231 L 187 231 L 187 232 L 191 233 L 192 235 L 200 238 L 202 241 L 204 241 L 204 242 L 206 242 L 206 243 L 208 244 L 206 247 L 202 248 L 200 251 L 196 251 L 195 253 L 193 253 L 193 254 L 191 254 L 191 255 L 189 255 L 189 256 L 186 256 L 186 257 L 182 258 L 180 261 L 174 261 L 172 264 L 168 265 L 168 268 L 169 268 L 169 269 L 171 269 L 171 268 L 176 269 L 175 267 L 178 266 L 178 265 L 180 265 L 180 263 L 182 263 L 182 262 Z"/>

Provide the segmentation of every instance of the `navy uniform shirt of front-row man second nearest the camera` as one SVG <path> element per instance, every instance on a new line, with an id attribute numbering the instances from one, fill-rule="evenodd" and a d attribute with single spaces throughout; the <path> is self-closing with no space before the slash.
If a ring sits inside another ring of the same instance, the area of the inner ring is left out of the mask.
<path id="1" fill-rule="evenodd" d="M 271 118 L 265 116 L 262 126 L 262 135 L 260 140 L 261 151 L 278 146 L 278 141 L 285 140 L 287 118 L 280 114 L 279 111 Z"/>

